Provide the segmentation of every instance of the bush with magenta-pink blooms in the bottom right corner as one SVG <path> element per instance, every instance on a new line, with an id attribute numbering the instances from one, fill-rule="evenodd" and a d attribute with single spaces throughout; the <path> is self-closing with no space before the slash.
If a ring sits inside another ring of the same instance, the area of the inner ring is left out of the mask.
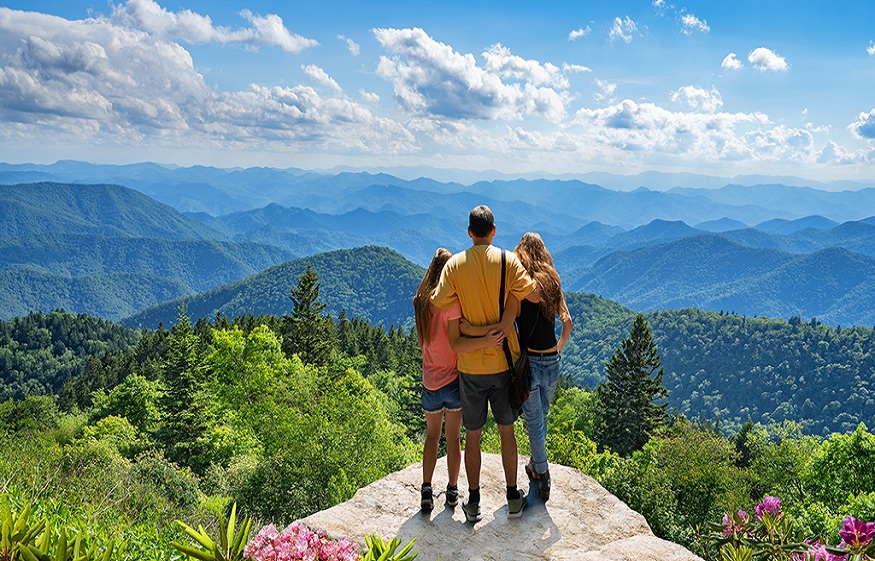
<path id="1" fill-rule="evenodd" d="M 830 546 L 801 539 L 793 521 L 784 516 L 782 507 L 778 497 L 768 496 L 756 506 L 753 520 L 743 510 L 724 514 L 721 524 L 712 525 L 714 532 L 710 540 L 719 548 L 721 559 L 875 561 L 875 522 L 846 517 L 839 529 L 841 541 Z"/>

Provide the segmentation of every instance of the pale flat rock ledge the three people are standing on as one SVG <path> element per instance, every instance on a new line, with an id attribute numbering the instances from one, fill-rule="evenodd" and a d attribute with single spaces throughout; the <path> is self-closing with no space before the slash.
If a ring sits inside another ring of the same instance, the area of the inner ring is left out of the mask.
<path id="1" fill-rule="evenodd" d="M 476 524 L 465 521 L 465 468 L 459 478 L 460 501 L 445 506 L 446 458 L 438 460 L 432 480 L 435 508 L 420 511 L 422 464 L 359 489 L 353 498 L 301 522 L 347 536 L 363 544 L 364 536 L 398 536 L 402 544 L 416 538 L 418 561 L 701 561 L 685 548 L 657 538 L 643 516 L 608 493 L 594 479 L 565 466 L 551 466 L 553 488 L 548 502 L 529 487 L 519 457 L 519 487 L 529 492 L 523 517 L 509 519 L 501 457 L 483 455 L 481 512 Z"/>

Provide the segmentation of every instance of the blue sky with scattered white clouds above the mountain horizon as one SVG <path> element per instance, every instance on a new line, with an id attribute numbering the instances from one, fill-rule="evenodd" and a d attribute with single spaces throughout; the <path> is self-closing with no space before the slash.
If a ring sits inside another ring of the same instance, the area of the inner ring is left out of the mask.
<path id="1" fill-rule="evenodd" d="M 0 0 L 0 161 L 875 186 L 875 2 Z"/>

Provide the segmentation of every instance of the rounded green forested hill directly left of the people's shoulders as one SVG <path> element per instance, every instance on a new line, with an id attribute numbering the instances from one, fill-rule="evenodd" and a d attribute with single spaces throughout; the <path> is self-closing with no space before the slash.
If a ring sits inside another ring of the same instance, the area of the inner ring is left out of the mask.
<path id="1" fill-rule="evenodd" d="M 271 267 L 244 280 L 195 296 L 179 298 L 137 313 L 122 323 L 127 326 L 169 325 L 184 305 L 193 318 L 245 314 L 281 316 L 291 312 L 291 289 L 310 265 L 321 284 L 326 312 L 338 317 L 346 309 L 350 317 L 373 324 L 412 326 L 412 300 L 424 269 L 385 247 L 367 246 L 320 253 Z"/>

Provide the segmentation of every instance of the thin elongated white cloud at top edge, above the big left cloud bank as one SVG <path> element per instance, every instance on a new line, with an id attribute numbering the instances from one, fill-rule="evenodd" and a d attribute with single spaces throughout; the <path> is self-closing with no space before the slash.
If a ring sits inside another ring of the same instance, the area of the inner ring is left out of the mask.
<path id="1" fill-rule="evenodd" d="M 160 39 L 252 47 L 272 45 L 291 53 L 319 44 L 313 39 L 291 33 L 277 15 L 257 16 L 249 10 L 242 10 L 240 16 L 249 21 L 252 27 L 236 30 L 217 27 L 209 16 L 191 10 L 171 12 L 154 0 L 128 0 L 125 4 L 113 6 L 112 10 L 112 21 L 116 25 L 144 31 Z"/>

